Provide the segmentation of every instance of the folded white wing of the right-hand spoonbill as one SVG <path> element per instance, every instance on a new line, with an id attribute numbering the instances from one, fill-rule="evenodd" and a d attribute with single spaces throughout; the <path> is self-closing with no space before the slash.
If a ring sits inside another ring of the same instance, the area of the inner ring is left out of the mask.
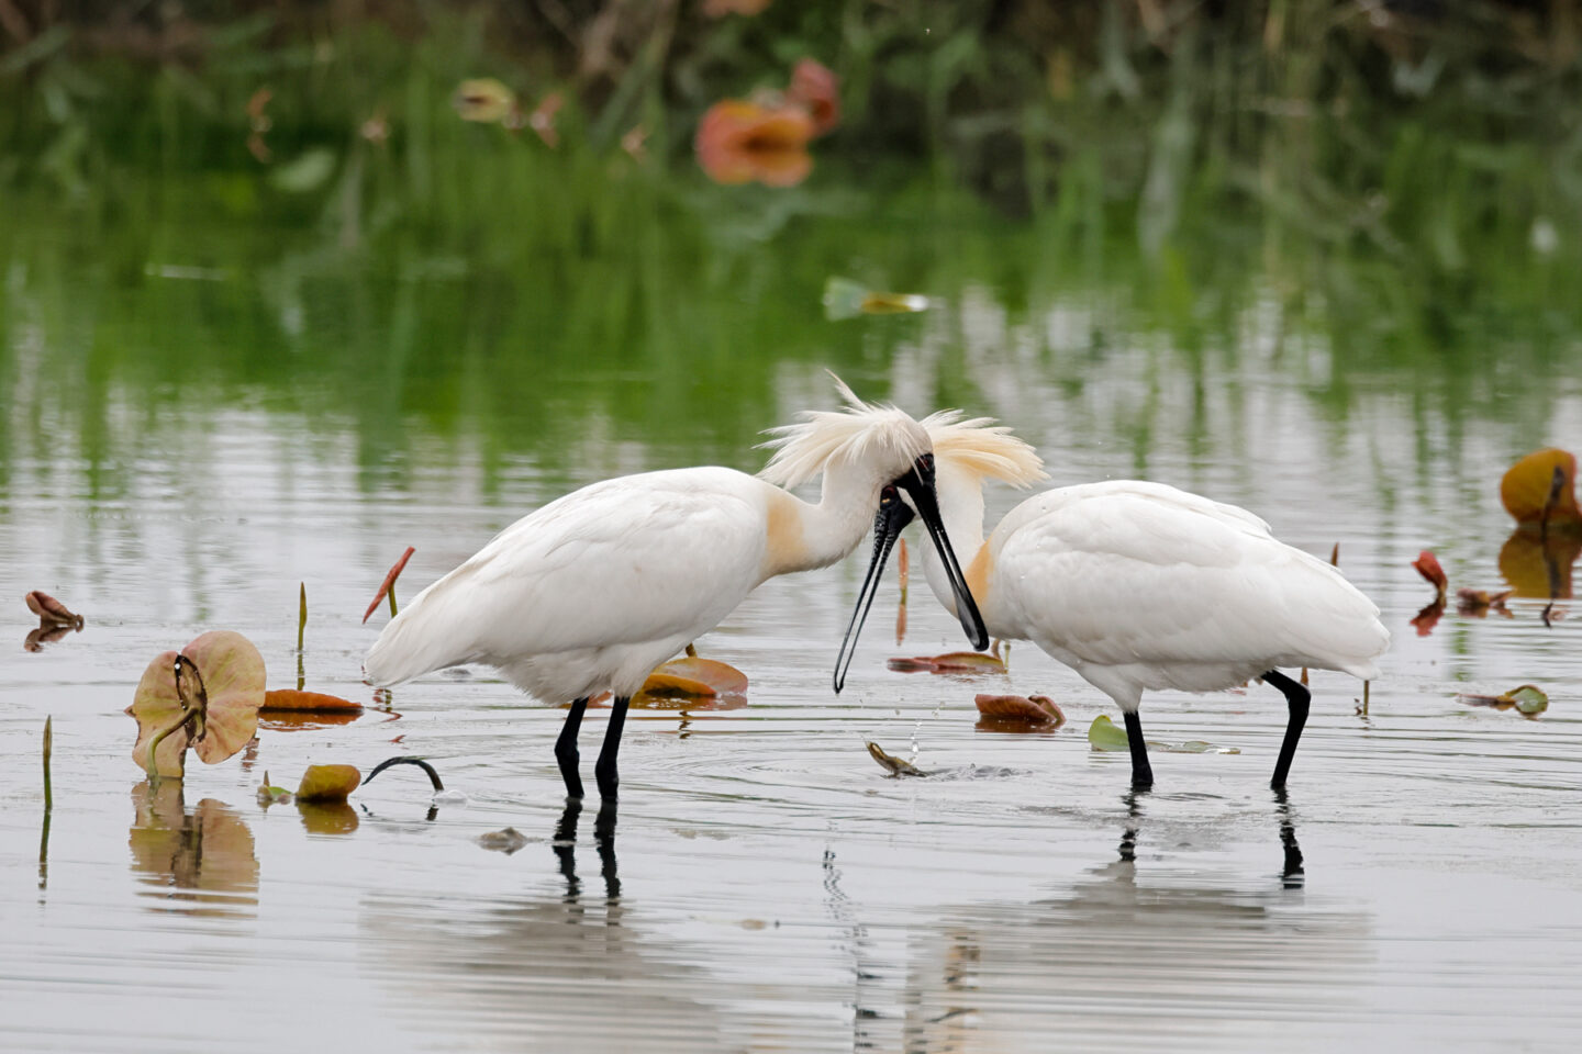
<path id="1" fill-rule="evenodd" d="M 1027 637 L 1085 662 L 1367 670 L 1378 608 L 1258 517 L 1158 484 L 1039 495 L 990 540 L 1001 602 Z"/>

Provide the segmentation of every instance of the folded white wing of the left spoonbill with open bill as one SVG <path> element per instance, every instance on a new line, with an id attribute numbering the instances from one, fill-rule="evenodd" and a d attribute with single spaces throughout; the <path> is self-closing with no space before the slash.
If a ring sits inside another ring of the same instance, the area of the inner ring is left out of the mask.
<path id="1" fill-rule="evenodd" d="M 702 634 L 756 583 L 756 487 L 731 469 L 679 469 L 573 491 L 419 593 L 369 653 L 369 675 Z"/>

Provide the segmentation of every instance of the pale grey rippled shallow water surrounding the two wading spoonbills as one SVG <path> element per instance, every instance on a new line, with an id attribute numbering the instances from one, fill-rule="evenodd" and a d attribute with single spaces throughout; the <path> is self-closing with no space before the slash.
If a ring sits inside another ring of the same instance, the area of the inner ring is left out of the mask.
<path id="1" fill-rule="evenodd" d="M 1316 395 L 1334 349 L 1310 337 L 1264 354 L 1258 305 L 1232 327 L 1247 333 L 1236 354 L 1207 357 L 1179 356 L 1092 289 L 1009 308 L 967 283 L 924 319 L 853 322 L 867 348 L 835 365 L 864 393 L 998 416 L 1038 444 L 1055 484 L 1141 474 L 1243 504 L 1310 551 L 1338 540 L 1343 570 L 1395 634 L 1367 711 L 1361 684 L 1316 672 L 1277 796 L 1266 784 L 1278 692 L 1158 694 L 1144 705 L 1150 738 L 1240 752 L 1156 752 L 1156 790 L 1134 796 L 1126 757 L 1085 738 L 1112 708 L 1030 645 L 1012 648 L 1006 678 L 886 668 L 888 656 L 962 646 L 921 575 L 905 643 L 888 634 L 888 588 L 832 695 L 861 575 L 848 561 L 767 583 L 699 642 L 748 673 L 747 706 L 633 711 L 619 811 L 596 798 L 568 809 L 551 752 L 560 710 L 484 668 L 375 700 L 359 678 L 384 621 L 359 624 L 373 588 L 403 545 L 418 548 L 399 586 L 410 597 L 516 515 L 612 472 L 753 468 L 753 430 L 832 405 L 819 363 L 739 365 L 729 384 L 764 419 L 737 408 L 744 420 L 725 423 L 634 422 L 585 395 L 604 381 L 660 384 L 650 365 L 593 367 L 585 389 L 535 395 L 555 406 L 547 423 L 508 416 L 476 430 L 402 414 L 400 400 L 386 403 L 394 422 L 370 423 L 358 398 L 378 398 L 378 376 L 315 406 L 282 400 L 272 381 L 160 395 L 111 371 L 79 405 L 76 375 L 51 357 L 81 349 L 27 321 L 25 291 L 13 289 L 22 321 L 0 401 L 13 637 L 0 664 L 0 1046 L 1574 1043 L 1582 613 L 1561 600 L 1546 627 L 1544 599 L 1516 599 L 1508 619 L 1452 612 L 1419 637 L 1410 619 L 1430 589 L 1408 564 L 1427 547 L 1452 586 L 1522 574 L 1501 558 L 1511 525 L 1497 484 L 1535 430 L 1582 447 L 1576 379 L 1544 392 L 1549 425 L 1535 428 L 1498 400 L 1471 419 L 1424 405 L 1422 376 L 1400 363 L 1359 370 L 1337 409 Z M 786 343 L 834 332 L 816 303 L 802 324 Z M 1096 326 L 1112 333 L 1103 356 L 1085 343 Z M 310 365 L 290 368 L 315 382 Z M 397 449 L 381 446 L 391 431 Z M 990 515 L 1014 501 L 995 493 Z M 191 762 L 184 785 L 150 795 L 120 713 L 147 661 L 226 627 L 258 643 L 272 687 L 294 684 L 299 582 L 307 686 L 370 710 L 345 725 L 266 724 L 244 757 Z M 81 610 L 87 629 L 24 653 L 21 596 L 33 588 Z M 1549 691 L 1542 717 L 1457 700 L 1520 683 Z M 973 694 L 1006 689 L 1050 694 L 1069 724 L 976 728 Z M 603 713 L 585 722 L 585 759 Z M 865 740 L 935 774 L 886 777 Z M 345 809 L 255 800 L 266 770 L 294 785 L 310 763 L 367 771 L 396 754 L 427 757 L 468 801 L 432 807 L 410 768 Z M 506 826 L 527 838 L 519 852 L 479 845 Z"/>

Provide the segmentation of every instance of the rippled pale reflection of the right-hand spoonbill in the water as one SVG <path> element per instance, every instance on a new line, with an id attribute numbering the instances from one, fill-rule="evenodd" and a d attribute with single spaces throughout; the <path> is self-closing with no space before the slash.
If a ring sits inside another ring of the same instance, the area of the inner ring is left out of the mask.
<path id="1" fill-rule="evenodd" d="M 1278 864 L 1250 872 L 1234 856 L 1182 860 L 1174 847 L 1199 841 L 1196 822 L 1156 815 L 1147 795 L 1122 804 L 1115 855 L 1052 896 L 938 909 L 910 940 L 905 989 L 869 992 L 902 1010 L 873 1046 L 965 1054 L 1063 1035 L 1088 1049 L 1082 1037 L 1142 1027 L 1193 1049 L 1261 1049 L 1259 1029 L 1291 1013 L 1292 992 L 1315 1019 L 1354 1010 L 1373 918 L 1304 886 L 1289 798 L 1275 793 L 1259 822 L 1274 820 L 1262 838 L 1278 834 Z"/>

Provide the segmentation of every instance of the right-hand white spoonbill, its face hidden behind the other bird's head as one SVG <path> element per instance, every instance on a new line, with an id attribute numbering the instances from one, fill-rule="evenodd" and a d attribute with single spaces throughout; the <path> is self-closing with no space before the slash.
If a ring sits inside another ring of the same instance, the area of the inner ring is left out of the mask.
<path id="1" fill-rule="evenodd" d="M 1046 479 L 1033 449 L 990 419 L 929 417 L 940 515 L 967 561 L 989 632 L 1031 640 L 1115 700 L 1131 743 L 1131 784 L 1153 784 L 1142 692 L 1210 692 L 1262 678 L 1289 710 L 1270 785 L 1285 787 L 1307 724 L 1308 691 L 1277 667 L 1378 676 L 1389 646 L 1380 610 L 1342 574 L 1277 540 L 1236 506 L 1139 480 L 1062 487 L 1028 498 L 984 540 L 982 487 Z M 905 501 L 875 520 L 892 537 Z M 924 551 L 933 594 L 956 610 L 946 569 Z"/>

